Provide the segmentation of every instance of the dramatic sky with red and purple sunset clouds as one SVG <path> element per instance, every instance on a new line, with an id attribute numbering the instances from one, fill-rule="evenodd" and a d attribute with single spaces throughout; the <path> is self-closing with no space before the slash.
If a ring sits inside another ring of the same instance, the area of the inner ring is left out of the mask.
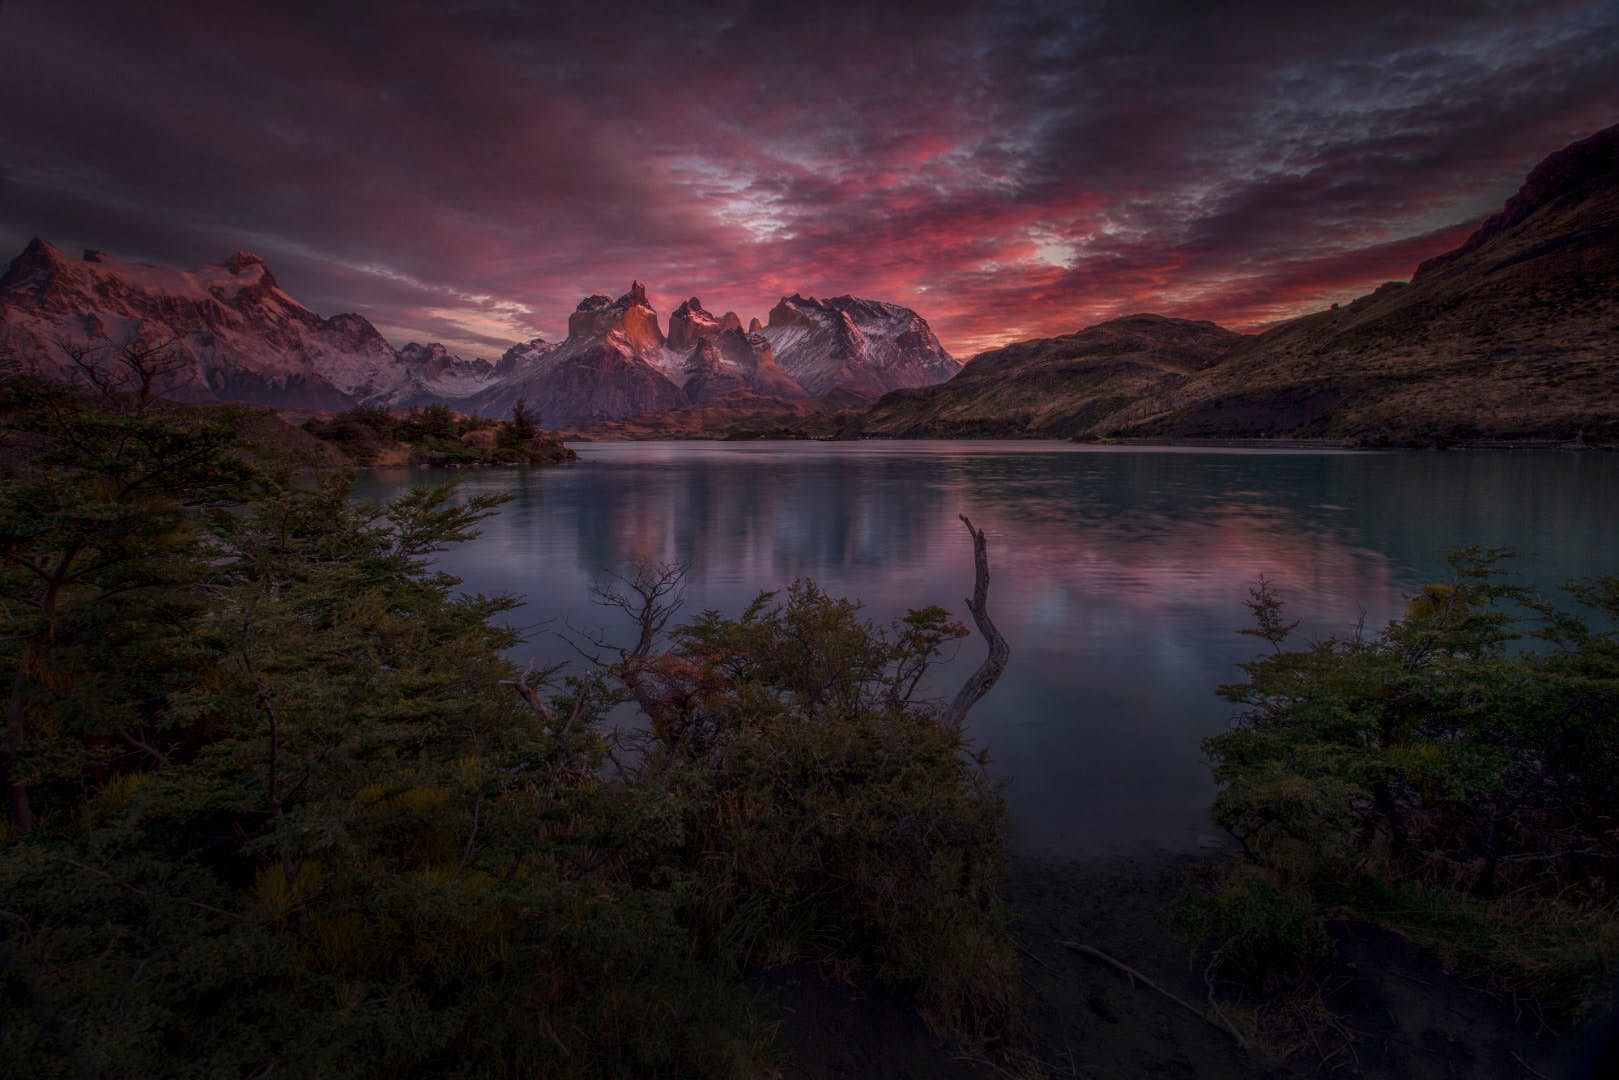
<path id="1" fill-rule="evenodd" d="M 244 248 L 495 355 L 644 279 L 962 355 L 1409 277 L 1619 121 L 1619 3 L 0 5 L 0 244 Z"/>

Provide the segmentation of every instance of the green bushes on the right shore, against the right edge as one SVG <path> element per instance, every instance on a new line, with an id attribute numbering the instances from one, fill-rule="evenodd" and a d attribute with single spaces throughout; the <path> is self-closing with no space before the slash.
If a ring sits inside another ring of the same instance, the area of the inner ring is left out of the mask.
<path id="1" fill-rule="evenodd" d="M 1559 610 L 1465 551 L 1381 633 L 1284 643 L 1222 688 L 1216 819 L 1282 895 L 1400 929 L 1579 1012 L 1619 957 L 1619 583 Z M 1609 628 L 1603 628 L 1603 627 Z"/>

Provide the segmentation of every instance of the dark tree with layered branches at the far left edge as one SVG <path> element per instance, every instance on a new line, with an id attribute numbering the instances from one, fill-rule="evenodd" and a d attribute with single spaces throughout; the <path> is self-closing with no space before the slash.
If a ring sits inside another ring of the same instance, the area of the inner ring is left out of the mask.
<path id="1" fill-rule="evenodd" d="M 23 834 L 32 780 L 70 782 L 65 763 L 96 738 L 144 742 L 141 711 L 100 696 L 170 662 L 157 649 L 194 609 L 185 589 L 209 557 L 199 520 L 253 474 L 222 416 L 168 406 L 149 381 L 94 385 L 94 398 L 26 377 L 0 387 L 5 436 L 29 447 L 0 473 L 0 619 L 18 643 L 0 787 Z"/>

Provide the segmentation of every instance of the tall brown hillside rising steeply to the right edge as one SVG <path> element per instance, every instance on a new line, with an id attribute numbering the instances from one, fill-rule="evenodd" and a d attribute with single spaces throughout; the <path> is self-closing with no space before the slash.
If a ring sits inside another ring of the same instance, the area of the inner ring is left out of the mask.
<path id="1" fill-rule="evenodd" d="M 1098 434 L 1619 440 L 1619 125 L 1409 283 L 1255 335 Z"/>

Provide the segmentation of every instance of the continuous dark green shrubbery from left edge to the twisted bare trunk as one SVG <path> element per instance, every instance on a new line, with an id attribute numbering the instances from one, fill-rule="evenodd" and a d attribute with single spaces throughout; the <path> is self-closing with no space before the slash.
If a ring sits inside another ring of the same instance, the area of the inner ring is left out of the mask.
<path id="1" fill-rule="evenodd" d="M 1001 805 L 915 696 L 942 612 L 665 604 L 520 674 L 513 601 L 432 567 L 499 499 L 368 504 L 230 411 L 5 392 L 0 1074 L 750 1074 L 735 973 L 788 957 L 1004 1015 Z"/>

